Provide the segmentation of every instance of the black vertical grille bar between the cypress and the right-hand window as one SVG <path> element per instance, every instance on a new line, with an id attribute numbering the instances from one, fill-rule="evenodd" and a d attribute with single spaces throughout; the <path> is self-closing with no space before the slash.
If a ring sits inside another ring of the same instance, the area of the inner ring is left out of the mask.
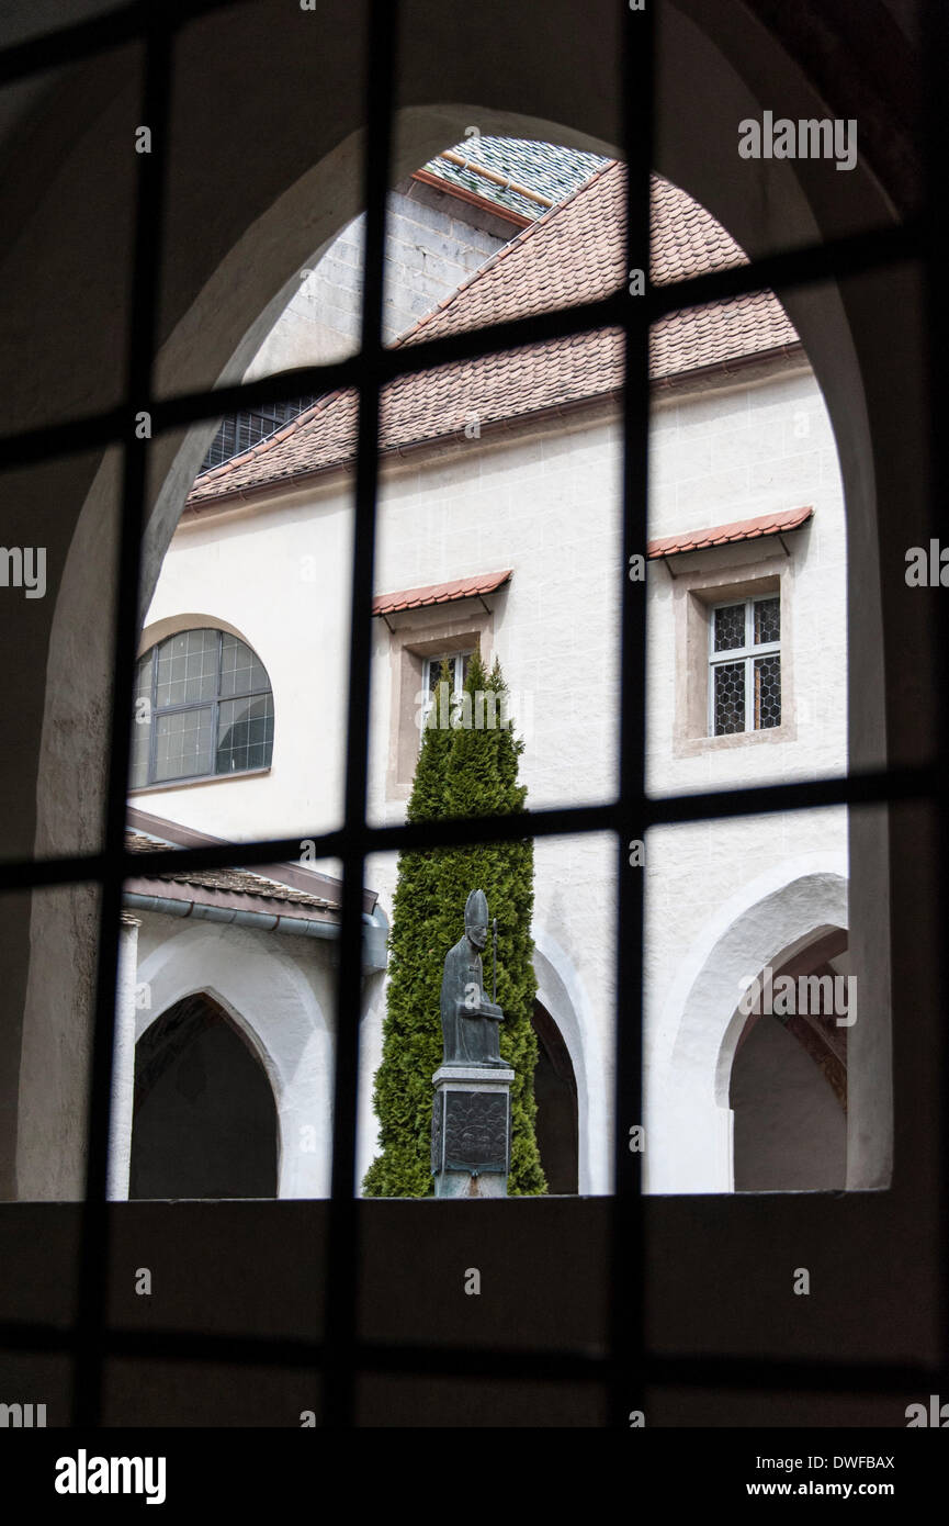
<path id="1" fill-rule="evenodd" d="M 650 171 L 653 162 L 653 9 L 624 6 L 622 146 L 627 165 L 626 269 L 650 272 Z M 616 1076 L 613 1105 L 613 1202 L 610 1225 L 610 1424 L 629 1425 L 642 1410 L 642 1152 L 630 1129 L 642 1125 L 642 940 L 645 868 L 629 862 L 629 841 L 642 838 L 645 795 L 645 580 L 633 580 L 630 557 L 645 557 L 648 488 L 648 322 L 642 298 L 630 295 L 622 391 L 622 615 L 619 707 L 619 803 L 624 832 L 618 855 Z M 648 1140 L 647 1140 L 648 1148 Z"/>

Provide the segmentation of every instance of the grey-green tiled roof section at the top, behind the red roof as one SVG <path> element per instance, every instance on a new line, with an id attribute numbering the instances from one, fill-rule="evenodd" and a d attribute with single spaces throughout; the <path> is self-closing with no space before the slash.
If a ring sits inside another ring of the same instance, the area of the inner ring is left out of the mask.
<path id="1" fill-rule="evenodd" d="M 455 145 L 453 153 L 464 154 L 470 163 L 507 175 L 516 185 L 537 191 L 554 203 L 563 201 L 606 163 L 600 154 L 584 154 L 577 148 L 561 148 L 558 143 L 536 143 L 525 137 L 465 137 Z M 531 221 L 543 214 L 543 206 L 529 197 L 497 186 L 447 159 L 430 159 L 424 168 L 430 175 L 438 175 L 439 180 L 464 191 L 473 191 L 482 200 L 494 201 Z"/>

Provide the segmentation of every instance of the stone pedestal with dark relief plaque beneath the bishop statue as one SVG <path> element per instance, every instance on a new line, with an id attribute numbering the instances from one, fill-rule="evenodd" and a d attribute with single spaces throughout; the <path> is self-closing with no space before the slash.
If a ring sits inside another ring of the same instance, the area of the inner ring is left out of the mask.
<path id="1" fill-rule="evenodd" d="M 439 1065 L 432 1076 L 436 1198 L 507 1198 L 511 1082 L 507 1067 Z"/>

